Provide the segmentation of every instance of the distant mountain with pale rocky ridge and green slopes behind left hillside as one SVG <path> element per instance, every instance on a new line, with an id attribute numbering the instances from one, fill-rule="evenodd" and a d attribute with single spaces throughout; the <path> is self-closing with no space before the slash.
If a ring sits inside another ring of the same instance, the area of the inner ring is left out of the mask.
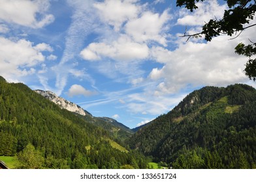
<path id="1" fill-rule="evenodd" d="M 112 118 L 92 116 L 92 114 L 87 110 L 82 109 L 82 107 L 72 103 L 71 101 L 58 97 L 56 94 L 54 94 L 54 92 L 44 90 L 35 90 L 35 92 L 44 98 L 49 99 L 53 103 L 56 103 L 61 109 L 67 109 L 78 114 L 77 116 L 83 118 L 85 122 L 93 123 L 94 125 L 109 131 L 117 140 L 125 140 L 134 133 L 131 131 L 131 129 L 129 129 L 129 127 L 117 122 Z"/>

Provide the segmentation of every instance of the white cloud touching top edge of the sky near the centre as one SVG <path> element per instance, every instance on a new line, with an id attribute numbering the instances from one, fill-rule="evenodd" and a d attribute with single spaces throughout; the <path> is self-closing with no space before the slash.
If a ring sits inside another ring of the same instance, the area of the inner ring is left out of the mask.
<path id="1" fill-rule="evenodd" d="M 131 0 L 106 0 L 103 3 L 95 3 L 94 6 L 104 22 L 114 26 L 114 30 L 120 31 L 121 25 L 125 21 L 136 18 L 140 7 L 135 3 L 136 1 Z"/>

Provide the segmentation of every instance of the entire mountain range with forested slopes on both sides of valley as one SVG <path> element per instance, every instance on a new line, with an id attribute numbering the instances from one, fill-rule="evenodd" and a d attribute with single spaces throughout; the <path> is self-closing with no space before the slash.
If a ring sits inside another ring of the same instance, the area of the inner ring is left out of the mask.
<path id="1" fill-rule="evenodd" d="M 129 129 L 0 77 L 0 155 L 17 156 L 18 168 L 256 168 L 255 108 L 251 86 L 205 86 Z"/>

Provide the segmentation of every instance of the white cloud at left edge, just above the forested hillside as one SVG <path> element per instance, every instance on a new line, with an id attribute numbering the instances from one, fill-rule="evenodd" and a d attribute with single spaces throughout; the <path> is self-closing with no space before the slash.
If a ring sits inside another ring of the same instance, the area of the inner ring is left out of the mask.
<path id="1" fill-rule="evenodd" d="M 34 66 L 44 62 L 45 57 L 42 51 L 48 51 L 49 45 L 45 49 L 39 49 L 40 45 L 33 45 L 32 42 L 21 39 L 12 41 L 0 37 L 0 73 L 7 79 L 22 77 L 35 73 Z M 41 47 L 42 48 L 42 47 Z"/>

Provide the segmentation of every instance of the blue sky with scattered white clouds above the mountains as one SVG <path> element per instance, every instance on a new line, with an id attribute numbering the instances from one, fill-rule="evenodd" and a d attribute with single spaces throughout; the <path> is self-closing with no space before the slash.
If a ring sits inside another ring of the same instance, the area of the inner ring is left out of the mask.
<path id="1" fill-rule="evenodd" d="M 197 6 L 190 12 L 168 0 L 0 0 L 0 75 L 130 128 L 203 86 L 255 87 L 244 73 L 248 59 L 234 53 L 255 38 L 255 28 L 237 38 L 186 41 L 185 31 L 200 32 L 227 9 L 217 0 Z"/>

